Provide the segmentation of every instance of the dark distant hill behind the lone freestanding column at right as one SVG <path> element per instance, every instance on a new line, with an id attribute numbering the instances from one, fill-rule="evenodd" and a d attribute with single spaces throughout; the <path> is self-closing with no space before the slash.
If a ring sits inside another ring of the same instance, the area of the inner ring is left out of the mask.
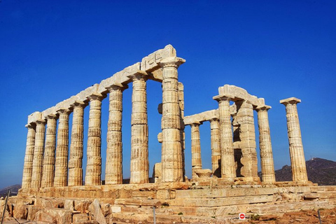
<path id="1" fill-rule="evenodd" d="M 306 161 L 306 167 L 309 181 L 318 183 L 320 186 L 336 185 L 336 162 L 312 158 Z M 282 169 L 276 170 L 275 179 L 276 181 L 292 181 L 292 168 L 285 165 Z"/>

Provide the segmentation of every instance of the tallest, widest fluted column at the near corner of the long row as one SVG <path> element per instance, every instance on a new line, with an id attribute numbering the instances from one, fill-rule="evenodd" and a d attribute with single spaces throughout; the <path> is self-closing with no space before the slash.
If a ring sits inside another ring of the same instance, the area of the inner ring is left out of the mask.
<path id="1" fill-rule="evenodd" d="M 181 112 L 177 68 L 186 62 L 179 57 L 162 59 L 162 182 L 183 181 Z"/>

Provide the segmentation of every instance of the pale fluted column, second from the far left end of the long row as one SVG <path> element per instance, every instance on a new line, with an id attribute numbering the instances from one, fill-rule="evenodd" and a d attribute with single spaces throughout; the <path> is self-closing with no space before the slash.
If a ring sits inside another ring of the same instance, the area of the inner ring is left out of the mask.
<path id="1" fill-rule="evenodd" d="M 31 188 L 40 188 L 43 169 L 45 120 L 36 120 L 33 168 L 31 171 Z"/>

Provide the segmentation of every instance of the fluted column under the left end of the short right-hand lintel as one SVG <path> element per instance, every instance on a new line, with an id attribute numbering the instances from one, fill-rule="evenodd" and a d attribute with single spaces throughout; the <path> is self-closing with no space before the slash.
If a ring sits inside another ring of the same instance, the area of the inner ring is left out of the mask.
<path id="1" fill-rule="evenodd" d="M 230 97 L 216 96 L 221 130 L 221 173 L 222 178 L 232 181 L 236 176 L 235 153 L 232 142 L 232 125 L 230 115 Z"/>

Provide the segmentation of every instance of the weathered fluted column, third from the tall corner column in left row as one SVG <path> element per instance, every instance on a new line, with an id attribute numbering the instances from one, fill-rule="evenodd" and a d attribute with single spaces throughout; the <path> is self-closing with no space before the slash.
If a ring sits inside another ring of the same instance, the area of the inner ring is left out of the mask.
<path id="1" fill-rule="evenodd" d="M 123 183 L 123 90 L 121 83 L 107 87 L 109 90 L 109 123 L 107 126 L 105 184 Z"/>

